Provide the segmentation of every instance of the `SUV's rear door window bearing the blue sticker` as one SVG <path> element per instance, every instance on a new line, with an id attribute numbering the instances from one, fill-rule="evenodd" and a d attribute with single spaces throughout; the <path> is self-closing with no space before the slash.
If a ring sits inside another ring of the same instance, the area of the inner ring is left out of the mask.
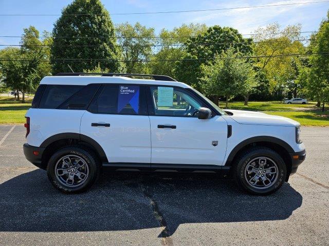
<path id="1" fill-rule="evenodd" d="M 146 115 L 144 90 L 139 85 L 104 85 L 88 110 L 99 114 Z"/>

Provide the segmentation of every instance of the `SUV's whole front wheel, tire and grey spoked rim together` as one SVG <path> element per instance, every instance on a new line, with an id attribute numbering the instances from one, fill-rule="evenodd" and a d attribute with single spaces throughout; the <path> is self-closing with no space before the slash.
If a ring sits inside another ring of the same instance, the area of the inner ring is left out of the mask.
<path id="1" fill-rule="evenodd" d="M 253 147 L 237 159 L 234 178 L 237 185 L 251 194 L 267 195 L 276 192 L 287 175 L 282 157 L 264 147 Z"/>

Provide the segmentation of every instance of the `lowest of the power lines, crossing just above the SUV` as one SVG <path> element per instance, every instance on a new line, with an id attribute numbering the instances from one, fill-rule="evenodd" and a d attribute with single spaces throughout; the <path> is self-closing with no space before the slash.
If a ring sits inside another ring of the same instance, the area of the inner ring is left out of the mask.
<path id="1" fill-rule="evenodd" d="M 321 53 L 303 53 L 303 54 L 279 54 L 279 55 L 258 55 L 258 56 L 237 56 L 237 57 L 210 57 L 210 58 L 187 58 L 187 59 L 156 59 L 156 60 L 118 60 L 118 59 L 84 59 L 84 58 L 56 58 L 53 60 L 40 60 L 41 62 L 50 61 L 117 61 L 117 62 L 156 62 L 156 61 L 192 61 L 192 60 L 223 60 L 223 59 L 251 59 L 251 58 L 270 58 L 270 57 L 285 57 L 285 56 L 315 56 L 315 55 L 329 55 L 329 52 Z M 33 59 L 0 59 L 0 61 L 33 61 Z"/>

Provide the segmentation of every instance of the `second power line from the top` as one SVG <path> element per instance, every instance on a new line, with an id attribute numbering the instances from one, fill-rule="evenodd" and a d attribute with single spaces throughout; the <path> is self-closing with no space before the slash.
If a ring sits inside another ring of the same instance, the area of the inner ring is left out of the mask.
<path id="1" fill-rule="evenodd" d="M 278 34 L 297 34 L 297 33 L 315 33 L 315 32 L 325 32 L 325 31 L 305 31 L 305 32 L 273 32 L 270 34 L 278 35 Z M 248 35 L 262 35 L 264 33 L 247 33 L 247 34 L 241 34 L 242 36 L 248 36 Z M 0 36 L 0 37 L 19 37 L 19 38 L 118 38 L 118 39 L 124 39 L 124 38 L 190 38 L 190 37 L 198 37 L 198 36 L 98 36 L 98 37 L 83 37 L 83 36 Z"/>

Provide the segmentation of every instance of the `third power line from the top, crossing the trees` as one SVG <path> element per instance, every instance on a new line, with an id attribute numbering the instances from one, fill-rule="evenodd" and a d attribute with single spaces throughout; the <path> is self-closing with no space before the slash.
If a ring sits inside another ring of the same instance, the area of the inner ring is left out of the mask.
<path id="1" fill-rule="evenodd" d="M 296 41 L 309 41 L 315 40 L 312 38 L 307 39 L 296 39 L 290 40 L 291 42 Z M 238 44 L 259 44 L 259 43 L 276 43 L 276 42 L 286 42 L 286 40 L 264 40 L 264 41 L 254 41 L 254 42 L 223 42 L 223 43 L 205 43 L 205 44 L 190 44 L 192 46 L 210 46 L 210 45 L 238 45 Z M 0 46 L 21 46 L 21 47 L 99 47 L 101 45 L 0 45 Z M 167 46 L 187 46 L 186 44 L 173 44 L 173 45 L 114 45 L 114 47 L 167 47 Z"/>

